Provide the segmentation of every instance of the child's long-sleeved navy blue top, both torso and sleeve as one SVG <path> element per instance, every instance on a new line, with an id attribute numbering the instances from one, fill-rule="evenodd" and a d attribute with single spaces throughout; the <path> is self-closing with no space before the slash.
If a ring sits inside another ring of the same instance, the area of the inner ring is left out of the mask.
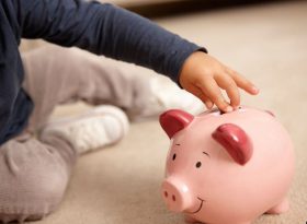
<path id="1" fill-rule="evenodd" d="M 178 81 L 184 60 L 204 50 L 132 12 L 80 0 L 0 0 L 0 144 L 20 133 L 33 109 L 22 90 L 21 38 L 43 38 L 134 62 Z"/>

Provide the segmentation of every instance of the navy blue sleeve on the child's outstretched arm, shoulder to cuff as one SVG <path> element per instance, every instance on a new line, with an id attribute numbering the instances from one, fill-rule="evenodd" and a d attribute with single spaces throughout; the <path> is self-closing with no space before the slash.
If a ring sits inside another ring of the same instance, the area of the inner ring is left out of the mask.
<path id="1" fill-rule="evenodd" d="M 24 38 L 43 38 L 134 62 L 178 81 L 184 60 L 204 48 L 135 13 L 79 0 L 15 0 Z"/>

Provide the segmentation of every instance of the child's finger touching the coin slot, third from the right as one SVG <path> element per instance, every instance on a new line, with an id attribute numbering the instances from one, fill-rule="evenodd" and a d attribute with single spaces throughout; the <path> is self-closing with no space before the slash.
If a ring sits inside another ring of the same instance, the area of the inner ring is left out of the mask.
<path id="1" fill-rule="evenodd" d="M 224 99 L 220 89 L 213 78 L 198 84 L 202 92 L 223 111 L 231 111 L 232 107 Z"/>

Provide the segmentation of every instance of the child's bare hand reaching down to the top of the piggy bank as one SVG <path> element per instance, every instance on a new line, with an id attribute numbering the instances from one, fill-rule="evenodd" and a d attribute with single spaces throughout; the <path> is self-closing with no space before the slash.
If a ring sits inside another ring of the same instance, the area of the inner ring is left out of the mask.
<path id="1" fill-rule="evenodd" d="M 179 82 L 204 102 L 208 109 L 215 104 L 223 111 L 231 111 L 240 105 L 238 87 L 253 95 L 259 92 L 246 78 L 202 51 L 193 52 L 186 59 Z M 227 92 L 230 104 L 223 97 L 220 89 Z"/>

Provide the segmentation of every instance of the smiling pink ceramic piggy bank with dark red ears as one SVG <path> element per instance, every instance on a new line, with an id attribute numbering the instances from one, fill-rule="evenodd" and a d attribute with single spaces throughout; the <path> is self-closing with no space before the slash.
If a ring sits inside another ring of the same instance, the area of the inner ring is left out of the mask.
<path id="1" fill-rule="evenodd" d="M 171 139 L 161 193 L 189 222 L 250 224 L 288 210 L 291 138 L 274 115 L 250 107 L 160 116 Z"/>

